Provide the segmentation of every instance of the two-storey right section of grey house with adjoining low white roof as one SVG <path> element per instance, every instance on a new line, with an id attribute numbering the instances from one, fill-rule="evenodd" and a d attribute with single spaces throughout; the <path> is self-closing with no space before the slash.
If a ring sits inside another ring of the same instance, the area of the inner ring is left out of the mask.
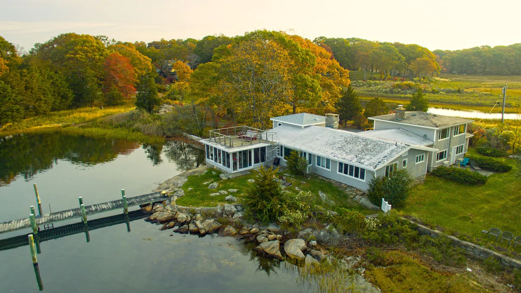
<path id="1" fill-rule="evenodd" d="M 402 105 L 398 105 L 395 114 L 369 119 L 374 120 L 374 130 L 363 132 L 362 135 L 403 143 L 416 135 L 424 138 L 421 145 L 437 149 L 426 158 L 429 171 L 441 165 L 452 165 L 458 158 L 463 158 L 468 141 L 473 136 L 467 133 L 467 127 L 474 120 L 428 112 L 406 112 Z M 405 135 L 406 132 L 414 135 Z M 414 139 L 409 142 L 414 143 Z"/>

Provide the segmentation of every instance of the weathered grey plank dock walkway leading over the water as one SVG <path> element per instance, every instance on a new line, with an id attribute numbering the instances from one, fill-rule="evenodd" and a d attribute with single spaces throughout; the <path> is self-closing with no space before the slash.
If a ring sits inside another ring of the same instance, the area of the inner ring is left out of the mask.
<path id="1" fill-rule="evenodd" d="M 130 197 L 127 199 L 127 206 L 135 206 L 140 204 L 152 203 L 156 201 L 163 201 L 165 197 L 162 197 L 159 192 L 144 194 L 142 196 Z M 115 200 L 104 203 L 93 204 L 89 206 L 85 206 L 86 215 L 94 215 L 98 213 L 113 211 L 113 210 L 123 210 L 123 200 Z M 45 214 L 40 217 L 36 217 L 36 225 L 41 226 L 45 224 L 56 223 L 60 221 L 66 221 L 69 219 L 81 218 L 83 216 L 82 211 L 79 207 L 76 209 L 54 212 L 50 214 Z M 30 218 L 17 219 L 14 221 L 0 223 L 0 233 L 6 233 L 10 231 L 15 231 L 23 228 L 30 228 L 31 220 Z"/>

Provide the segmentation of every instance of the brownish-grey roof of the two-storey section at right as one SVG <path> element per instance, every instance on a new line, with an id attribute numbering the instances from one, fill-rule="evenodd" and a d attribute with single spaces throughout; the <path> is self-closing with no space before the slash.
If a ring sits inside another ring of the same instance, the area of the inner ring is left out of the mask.
<path id="1" fill-rule="evenodd" d="M 452 116 L 444 116 L 437 114 L 430 114 L 426 112 L 413 111 L 413 112 L 405 112 L 405 117 L 403 119 L 396 119 L 395 114 L 386 114 L 380 116 L 369 117 L 371 120 L 382 120 L 382 121 L 390 121 L 394 123 L 402 123 L 402 124 L 410 124 L 427 128 L 444 128 L 458 124 L 465 124 L 472 122 L 474 120 L 452 117 Z"/>

